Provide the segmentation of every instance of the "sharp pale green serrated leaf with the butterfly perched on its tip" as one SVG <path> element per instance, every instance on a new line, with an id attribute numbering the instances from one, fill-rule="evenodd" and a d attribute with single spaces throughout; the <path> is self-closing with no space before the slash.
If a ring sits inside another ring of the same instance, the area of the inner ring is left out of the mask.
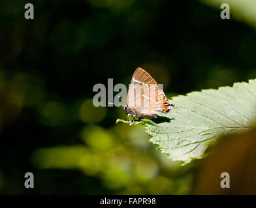
<path id="1" fill-rule="evenodd" d="M 208 145 L 218 136 L 244 131 L 253 125 L 256 79 L 249 80 L 249 83 L 235 83 L 233 87 L 176 96 L 170 103 L 176 108 L 168 114 L 159 114 L 159 119 L 154 121 L 144 119 L 134 124 L 146 125 L 146 132 L 152 136 L 150 141 L 158 144 L 161 152 L 186 164 L 202 158 Z"/>

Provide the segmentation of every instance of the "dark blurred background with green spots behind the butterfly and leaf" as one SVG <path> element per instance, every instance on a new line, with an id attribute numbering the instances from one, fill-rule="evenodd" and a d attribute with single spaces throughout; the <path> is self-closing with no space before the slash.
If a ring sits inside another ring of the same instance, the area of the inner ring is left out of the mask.
<path id="1" fill-rule="evenodd" d="M 35 19 L 25 19 L 33 3 Z M 229 3 L 231 19 L 220 18 Z M 195 165 L 168 159 L 93 86 L 137 67 L 168 98 L 256 77 L 255 1 L 0 3 L 0 194 L 189 194 Z M 35 188 L 24 187 L 32 172 Z"/>

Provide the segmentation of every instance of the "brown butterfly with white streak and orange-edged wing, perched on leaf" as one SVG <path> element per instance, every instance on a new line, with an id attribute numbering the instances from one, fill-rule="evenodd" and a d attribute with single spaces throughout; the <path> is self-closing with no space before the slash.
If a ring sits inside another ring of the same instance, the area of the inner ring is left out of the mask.
<path id="1" fill-rule="evenodd" d="M 129 121 L 131 122 L 130 116 L 133 117 L 133 122 L 135 122 L 135 118 L 139 120 L 157 118 L 155 114 L 168 113 L 170 106 L 175 107 L 174 104 L 169 103 L 155 79 L 142 68 L 137 68 L 129 85 L 127 104 L 123 106 Z"/>

